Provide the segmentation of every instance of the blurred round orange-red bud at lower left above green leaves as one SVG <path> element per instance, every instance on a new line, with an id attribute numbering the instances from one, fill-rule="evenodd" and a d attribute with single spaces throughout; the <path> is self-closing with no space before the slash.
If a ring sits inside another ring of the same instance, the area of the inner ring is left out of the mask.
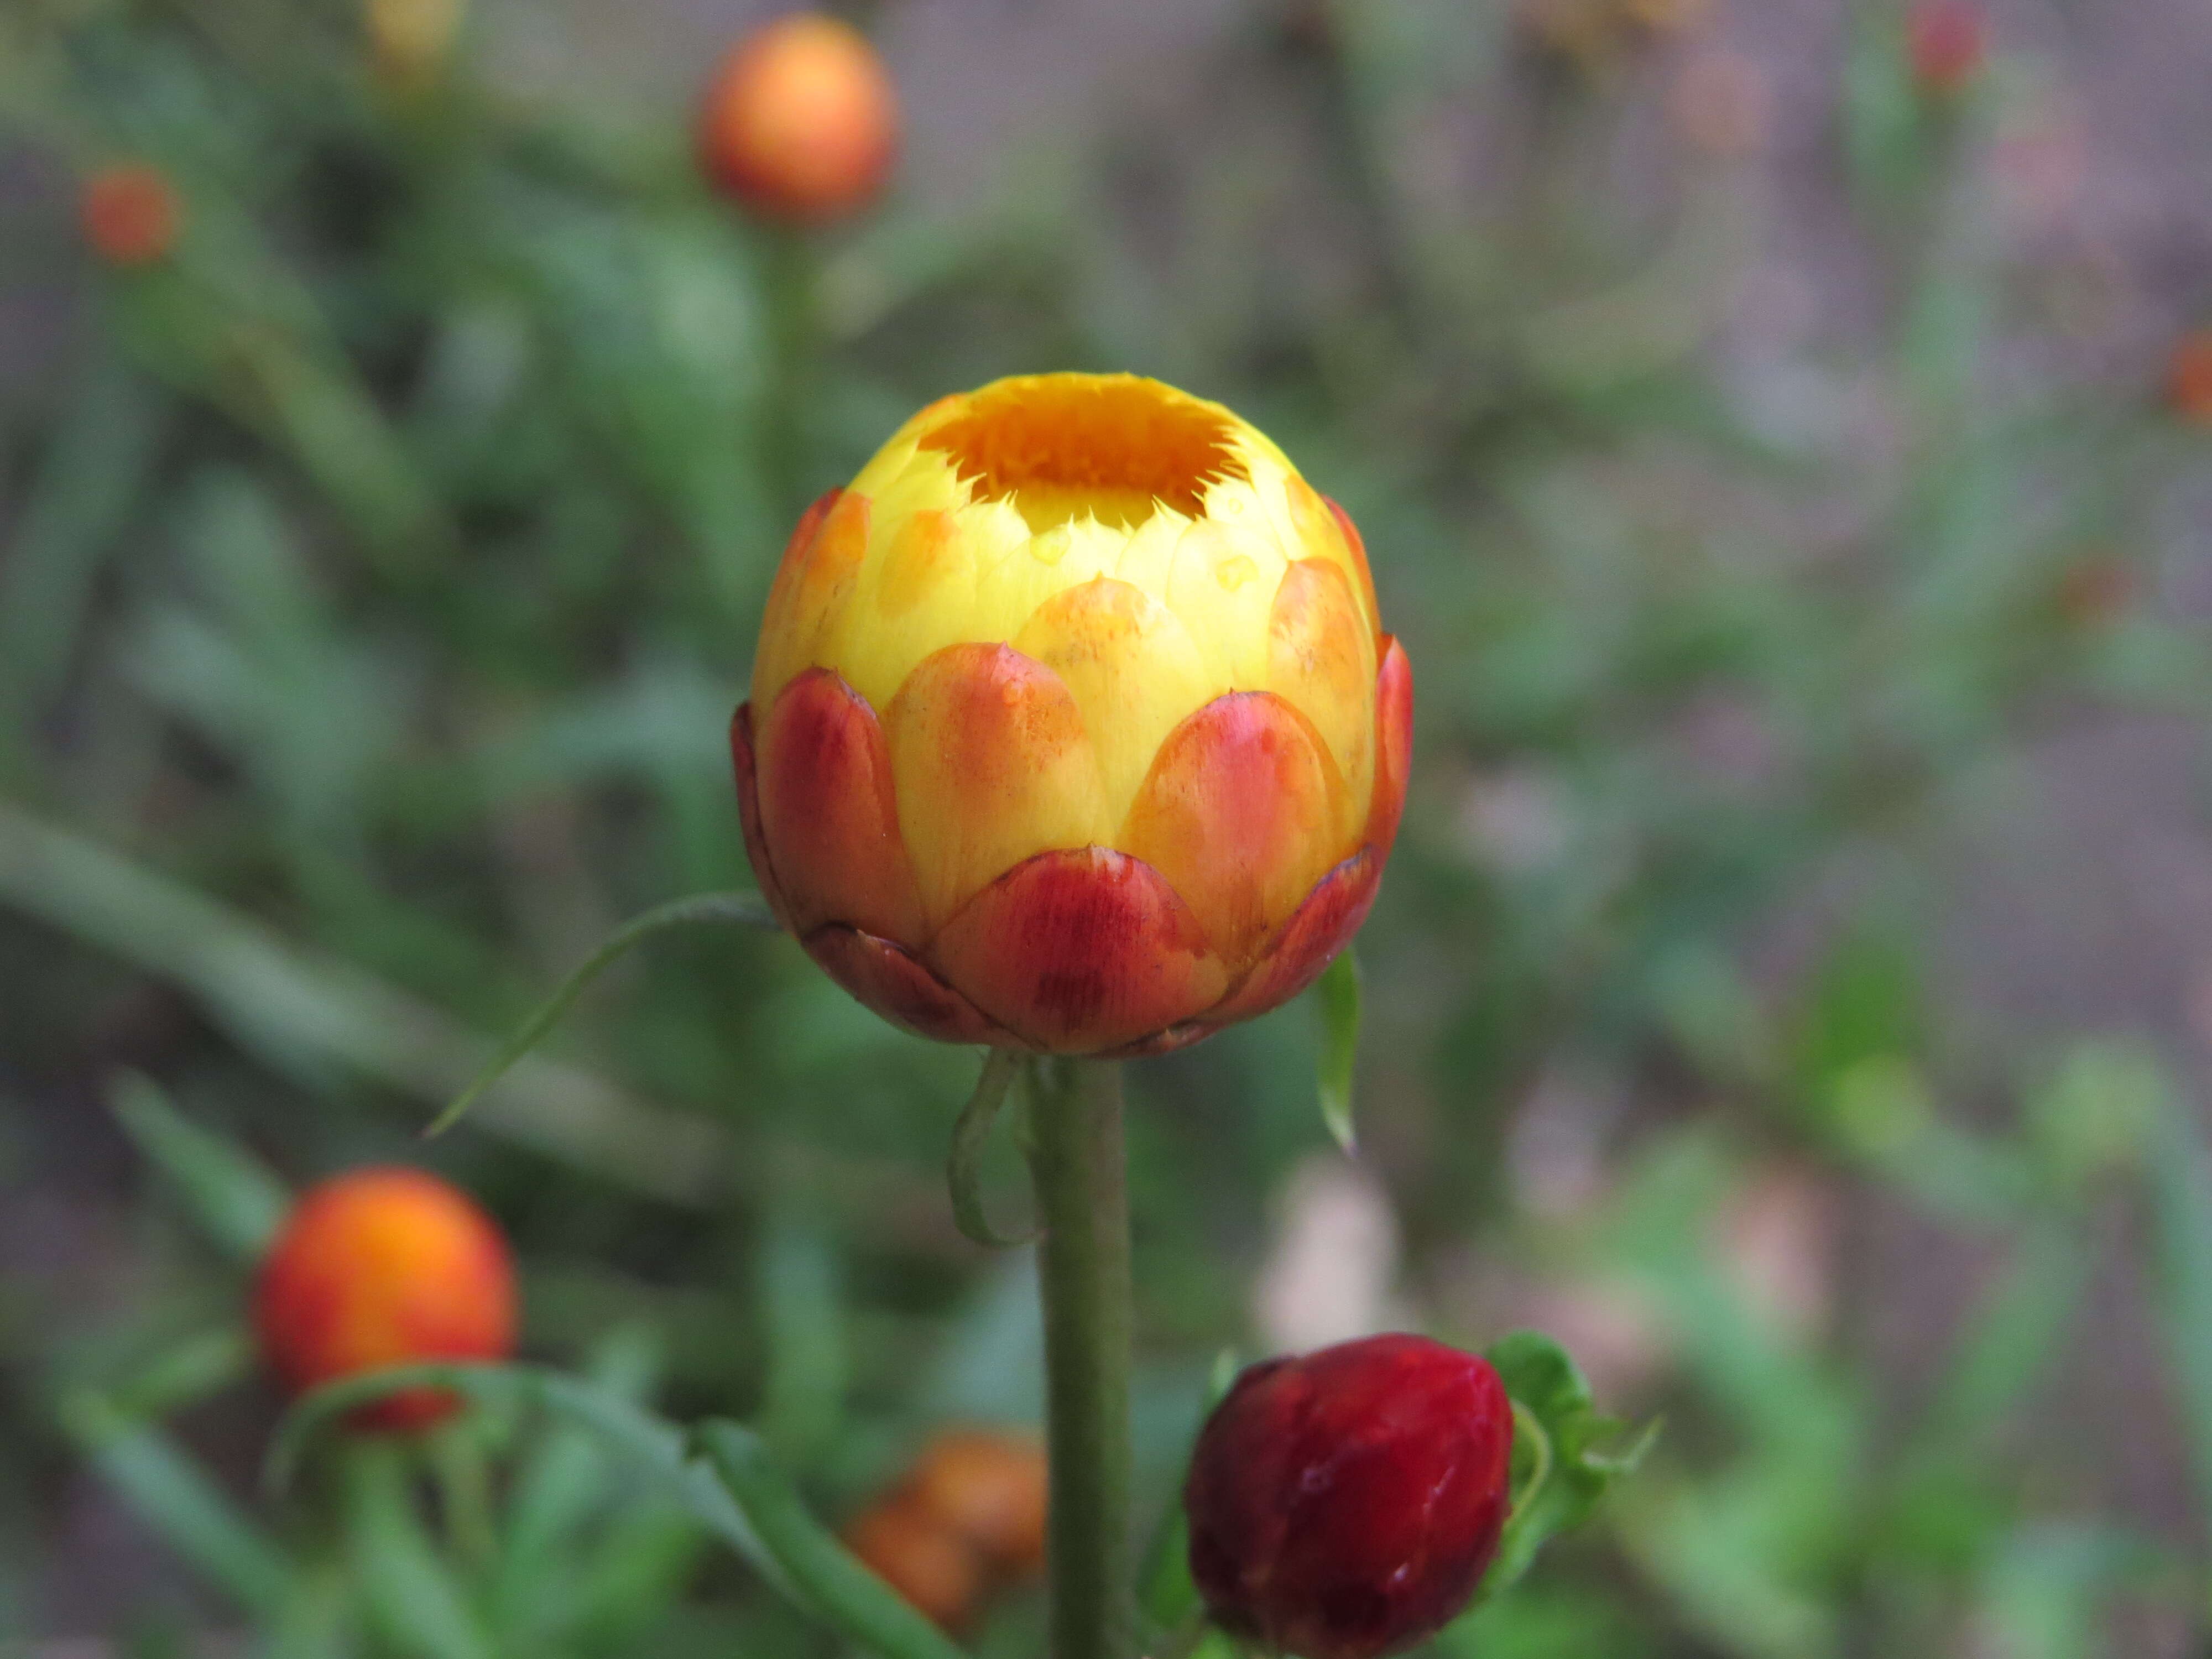
<path id="1" fill-rule="evenodd" d="M 458 1188 L 409 1168 L 352 1170 L 285 1219 L 254 1290 L 261 1352 L 303 1394 L 416 1360 L 498 1360 L 515 1340 L 515 1274 L 493 1221 Z M 407 1389 L 354 1416 L 420 1429 L 453 1411 Z"/>

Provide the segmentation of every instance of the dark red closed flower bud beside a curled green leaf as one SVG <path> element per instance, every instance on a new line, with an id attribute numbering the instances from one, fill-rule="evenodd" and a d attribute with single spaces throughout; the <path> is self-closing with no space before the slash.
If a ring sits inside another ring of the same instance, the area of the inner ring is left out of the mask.
<path id="1" fill-rule="evenodd" d="M 1376 1659 L 1436 1635 L 1506 1520 L 1513 1405 L 1491 1363 L 1369 1336 L 1237 1378 L 1190 1458 L 1190 1577 L 1232 1635 Z"/>

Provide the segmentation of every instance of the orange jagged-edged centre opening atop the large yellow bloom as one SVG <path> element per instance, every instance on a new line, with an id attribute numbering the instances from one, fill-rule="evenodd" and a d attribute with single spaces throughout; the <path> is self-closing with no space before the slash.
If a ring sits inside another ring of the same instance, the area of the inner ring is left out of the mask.
<path id="1" fill-rule="evenodd" d="M 975 500 L 1006 500 L 1046 531 L 1093 515 L 1135 529 L 1155 504 L 1199 518 L 1206 487 L 1248 478 L 1230 422 L 1203 403 L 1133 376 L 1035 376 L 969 400 L 922 438 Z"/>

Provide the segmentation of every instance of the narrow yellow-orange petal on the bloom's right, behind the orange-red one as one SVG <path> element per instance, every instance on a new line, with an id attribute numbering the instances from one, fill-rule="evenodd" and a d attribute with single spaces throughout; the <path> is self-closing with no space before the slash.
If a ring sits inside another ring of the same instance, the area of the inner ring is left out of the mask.
<path id="1" fill-rule="evenodd" d="M 1305 714 L 1345 781 L 1349 843 L 1374 787 L 1376 637 L 1340 564 L 1298 560 L 1267 619 L 1267 690 Z"/>

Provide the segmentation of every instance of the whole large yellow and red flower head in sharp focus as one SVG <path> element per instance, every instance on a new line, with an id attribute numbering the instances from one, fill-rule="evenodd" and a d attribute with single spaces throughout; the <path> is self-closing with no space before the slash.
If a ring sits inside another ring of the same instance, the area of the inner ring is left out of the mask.
<path id="1" fill-rule="evenodd" d="M 1161 1053 L 1365 920 L 1411 714 L 1358 531 L 1267 438 L 1044 374 L 929 405 L 807 511 L 730 741 L 761 889 L 867 1006 Z"/>

